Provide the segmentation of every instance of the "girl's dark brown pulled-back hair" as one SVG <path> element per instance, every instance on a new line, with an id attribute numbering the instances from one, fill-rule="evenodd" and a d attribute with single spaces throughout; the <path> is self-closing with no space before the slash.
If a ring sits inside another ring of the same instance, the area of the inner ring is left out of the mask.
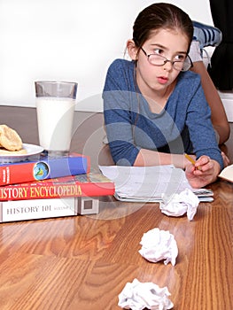
<path id="1" fill-rule="evenodd" d="M 179 28 L 192 41 L 193 26 L 189 15 L 174 4 L 151 4 L 140 12 L 133 27 L 133 40 L 136 47 L 142 47 L 150 38 L 151 31 L 164 28 Z M 189 50 L 188 50 L 189 51 Z"/>

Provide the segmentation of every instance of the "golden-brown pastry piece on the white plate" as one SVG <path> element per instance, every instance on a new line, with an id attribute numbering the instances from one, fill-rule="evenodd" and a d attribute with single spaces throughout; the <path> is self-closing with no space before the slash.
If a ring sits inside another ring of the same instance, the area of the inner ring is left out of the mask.
<path id="1" fill-rule="evenodd" d="M 6 125 L 0 125 L 0 144 L 8 151 L 19 151 L 23 145 L 18 133 Z"/>

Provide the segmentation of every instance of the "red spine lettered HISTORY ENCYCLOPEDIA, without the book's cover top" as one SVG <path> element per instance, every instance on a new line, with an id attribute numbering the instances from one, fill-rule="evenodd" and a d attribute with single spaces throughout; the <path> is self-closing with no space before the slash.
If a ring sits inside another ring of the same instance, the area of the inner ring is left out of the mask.
<path id="1" fill-rule="evenodd" d="M 112 196 L 114 192 L 115 188 L 113 182 L 56 183 L 48 180 L 28 184 L 2 186 L 0 187 L 0 201 Z"/>

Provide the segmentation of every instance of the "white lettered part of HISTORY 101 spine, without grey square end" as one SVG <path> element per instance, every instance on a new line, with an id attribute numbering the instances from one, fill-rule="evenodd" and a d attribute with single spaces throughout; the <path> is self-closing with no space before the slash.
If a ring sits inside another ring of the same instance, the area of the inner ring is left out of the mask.
<path id="1" fill-rule="evenodd" d="M 0 222 L 26 221 L 77 214 L 76 198 L 19 200 L 0 203 Z"/>

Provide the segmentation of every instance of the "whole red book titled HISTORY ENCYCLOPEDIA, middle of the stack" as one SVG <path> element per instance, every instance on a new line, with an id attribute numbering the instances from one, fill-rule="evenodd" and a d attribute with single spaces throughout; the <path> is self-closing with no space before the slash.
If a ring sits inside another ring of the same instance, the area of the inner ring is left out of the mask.
<path id="1" fill-rule="evenodd" d="M 113 195 L 114 182 L 103 174 L 69 175 L 0 187 L 0 201 Z"/>

